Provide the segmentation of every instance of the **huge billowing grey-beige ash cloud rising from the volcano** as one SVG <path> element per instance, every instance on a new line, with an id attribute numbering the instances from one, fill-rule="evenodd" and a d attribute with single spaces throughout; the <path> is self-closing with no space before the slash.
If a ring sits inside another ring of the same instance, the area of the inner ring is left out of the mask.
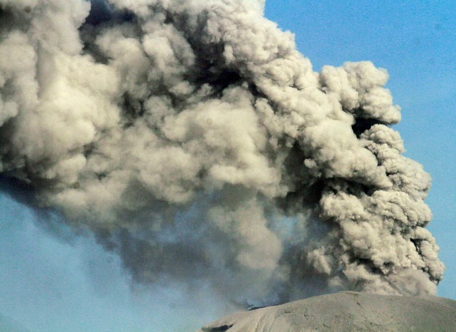
<path id="1" fill-rule="evenodd" d="M 434 294 L 430 177 L 388 73 L 314 72 L 263 6 L 0 0 L 2 176 L 139 282 Z"/>

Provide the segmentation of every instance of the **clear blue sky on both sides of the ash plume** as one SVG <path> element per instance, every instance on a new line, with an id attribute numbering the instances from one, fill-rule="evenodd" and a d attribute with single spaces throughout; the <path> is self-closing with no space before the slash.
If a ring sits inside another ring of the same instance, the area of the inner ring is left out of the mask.
<path id="1" fill-rule="evenodd" d="M 429 229 L 447 265 L 438 294 L 456 299 L 456 1 L 266 0 L 314 68 L 371 60 L 390 73 L 408 157 L 433 178 Z M 0 197 L 0 313 L 33 331 L 193 331 L 217 316 L 178 291 L 129 289 L 118 258 L 92 239 L 56 240 Z M 208 304 L 210 307 L 210 304 Z M 205 310 L 206 310 L 205 309 Z"/>

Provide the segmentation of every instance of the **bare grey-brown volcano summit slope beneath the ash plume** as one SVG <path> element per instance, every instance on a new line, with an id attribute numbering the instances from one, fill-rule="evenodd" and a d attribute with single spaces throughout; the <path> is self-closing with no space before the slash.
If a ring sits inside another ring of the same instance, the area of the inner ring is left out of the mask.
<path id="1" fill-rule="evenodd" d="M 344 291 L 234 313 L 201 331 L 456 331 L 456 301 Z"/>

